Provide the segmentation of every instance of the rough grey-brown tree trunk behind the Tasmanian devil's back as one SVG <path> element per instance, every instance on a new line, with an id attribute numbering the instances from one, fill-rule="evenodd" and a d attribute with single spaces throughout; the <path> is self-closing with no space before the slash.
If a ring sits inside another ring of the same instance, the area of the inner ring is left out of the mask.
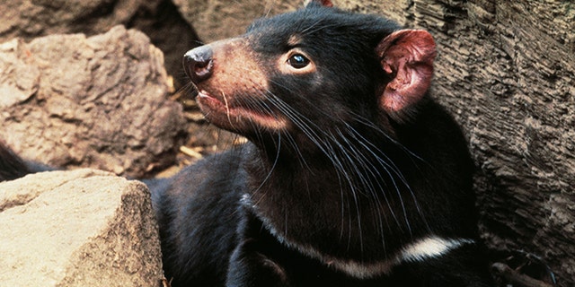
<path id="1" fill-rule="evenodd" d="M 484 238 L 543 257 L 560 286 L 574 286 L 575 3 L 335 4 L 434 35 L 432 94 L 468 137 Z"/>

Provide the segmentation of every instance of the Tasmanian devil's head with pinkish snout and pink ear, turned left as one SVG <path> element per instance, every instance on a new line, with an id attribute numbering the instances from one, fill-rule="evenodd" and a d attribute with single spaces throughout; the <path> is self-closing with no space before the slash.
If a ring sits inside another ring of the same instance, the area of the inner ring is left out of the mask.
<path id="1" fill-rule="evenodd" d="M 183 64 L 214 125 L 251 139 L 313 138 L 405 120 L 429 89 L 435 55 L 427 31 L 310 1 L 194 48 Z"/>

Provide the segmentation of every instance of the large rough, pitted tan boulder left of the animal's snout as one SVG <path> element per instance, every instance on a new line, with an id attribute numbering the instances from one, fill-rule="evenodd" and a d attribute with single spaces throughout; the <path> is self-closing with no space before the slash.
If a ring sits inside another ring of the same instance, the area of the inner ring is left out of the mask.
<path id="1" fill-rule="evenodd" d="M 133 177 L 173 163 L 185 119 L 143 33 L 13 39 L 0 66 L 0 135 L 23 157 Z"/>

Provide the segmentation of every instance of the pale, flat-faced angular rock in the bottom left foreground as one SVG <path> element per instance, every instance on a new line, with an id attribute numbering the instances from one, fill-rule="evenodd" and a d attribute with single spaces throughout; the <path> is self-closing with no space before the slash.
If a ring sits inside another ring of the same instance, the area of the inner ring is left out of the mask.
<path id="1" fill-rule="evenodd" d="M 159 286 L 150 195 L 99 170 L 50 171 L 0 183 L 3 286 Z"/>

